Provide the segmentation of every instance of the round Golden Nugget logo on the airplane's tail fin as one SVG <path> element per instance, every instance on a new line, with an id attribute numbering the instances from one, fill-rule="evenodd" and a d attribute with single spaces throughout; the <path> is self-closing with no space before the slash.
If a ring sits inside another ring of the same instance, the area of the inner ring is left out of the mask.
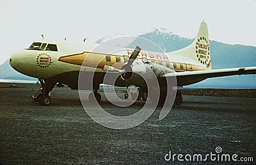
<path id="1" fill-rule="evenodd" d="M 197 38 L 196 41 L 196 57 L 202 64 L 207 65 L 210 59 L 209 41 L 204 36 Z"/>

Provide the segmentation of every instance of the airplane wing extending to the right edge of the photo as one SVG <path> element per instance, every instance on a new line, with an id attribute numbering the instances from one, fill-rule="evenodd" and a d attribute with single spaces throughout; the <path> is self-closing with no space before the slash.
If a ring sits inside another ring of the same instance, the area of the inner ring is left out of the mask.
<path id="1" fill-rule="evenodd" d="M 177 78 L 177 86 L 184 86 L 198 83 L 204 79 L 211 77 L 223 77 L 227 75 L 242 75 L 242 74 L 256 74 L 256 67 L 245 68 L 225 68 L 216 70 L 202 70 L 202 71 L 188 71 L 188 72 L 174 72 L 162 75 L 162 77 Z"/>

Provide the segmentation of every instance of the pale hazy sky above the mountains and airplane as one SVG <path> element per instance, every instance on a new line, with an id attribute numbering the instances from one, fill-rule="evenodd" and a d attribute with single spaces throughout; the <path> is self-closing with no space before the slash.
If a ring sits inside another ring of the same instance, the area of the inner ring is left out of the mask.
<path id="1" fill-rule="evenodd" d="M 41 34 L 95 41 L 166 28 L 180 36 L 195 37 L 202 20 L 209 26 L 211 40 L 256 46 L 255 0 L 1 0 L 0 64 Z"/>

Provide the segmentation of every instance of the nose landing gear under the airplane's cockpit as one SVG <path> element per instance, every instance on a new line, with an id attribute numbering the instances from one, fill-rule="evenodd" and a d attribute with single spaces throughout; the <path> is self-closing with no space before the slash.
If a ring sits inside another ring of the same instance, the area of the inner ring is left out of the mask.
<path id="1" fill-rule="evenodd" d="M 55 81 L 50 79 L 38 79 L 41 84 L 40 90 L 36 93 L 35 96 L 32 96 L 31 102 L 38 102 L 42 106 L 49 106 L 51 104 L 51 96 L 49 95 L 50 91 L 56 85 Z M 37 84 L 37 83 L 36 83 Z M 35 87 L 35 86 L 34 86 Z"/>

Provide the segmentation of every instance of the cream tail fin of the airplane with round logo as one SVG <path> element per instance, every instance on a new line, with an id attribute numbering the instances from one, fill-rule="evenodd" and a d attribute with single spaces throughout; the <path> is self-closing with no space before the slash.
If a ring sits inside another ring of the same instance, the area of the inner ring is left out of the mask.
<path id="1" fill-rule="evenodd" d="M 205 68 L 211 69 L 212 65 L 207 24 L 204 21 L 201 22 L 197 37 L 191 45 L 184 49 L 171 52 L 170 54 L 177 54 L 179 56 L 193 59 L 204 65 Z"/>

